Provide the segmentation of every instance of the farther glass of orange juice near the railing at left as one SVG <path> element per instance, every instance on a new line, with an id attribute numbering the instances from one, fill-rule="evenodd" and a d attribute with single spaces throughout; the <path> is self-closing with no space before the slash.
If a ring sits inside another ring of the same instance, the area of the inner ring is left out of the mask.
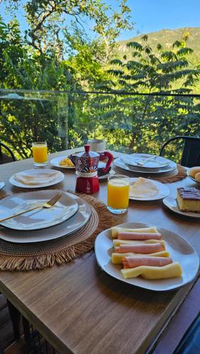
<path id="1" fill-rule="evenodd" d="M 41 167 L 48 164 L 48 144 L 47 142 L 33 142 L 34 166 Z"/>

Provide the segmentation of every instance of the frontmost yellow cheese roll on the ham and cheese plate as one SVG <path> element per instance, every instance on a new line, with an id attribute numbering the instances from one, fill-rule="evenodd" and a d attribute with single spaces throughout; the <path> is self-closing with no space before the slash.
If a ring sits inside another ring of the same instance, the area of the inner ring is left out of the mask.
<path id="1" fill-rule="evenodd" d="M 142 265 L 136 268 L 121 269 L 123 278 L 136 278 L 141 275 L 145 279 L 167 279 L 182 276 L 182 267 L 179 262 L 170 263 L 163 267 Z"/>

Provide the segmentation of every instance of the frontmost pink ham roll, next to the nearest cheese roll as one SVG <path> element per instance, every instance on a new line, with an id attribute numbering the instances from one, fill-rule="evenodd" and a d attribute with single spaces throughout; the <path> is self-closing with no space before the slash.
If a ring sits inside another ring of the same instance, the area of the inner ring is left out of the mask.
<path id="1" fill-rule="evenodd" d="M 163 267 L 164 265 L 172 263 L 171 257 L 124 257 L 123 258 L 123 268 L 135 268 L 140 265 L 150 265 L 152 267 Z"/>

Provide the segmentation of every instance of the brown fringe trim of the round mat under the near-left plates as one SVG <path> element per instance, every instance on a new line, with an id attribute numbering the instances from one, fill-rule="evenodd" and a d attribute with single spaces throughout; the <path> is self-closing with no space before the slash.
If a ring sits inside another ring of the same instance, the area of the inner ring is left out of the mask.
<path id="1" fill-rule="evenodd" d="M 79 196 L 87 202 L 90 202 L 99 216 L 99 224 L 88 239 L 55 253 L 45 253 L 38 256 L 5 256 L 1 254 L 0 270 L 40 270 L 46 267 L 52 267 L 55 263 L 61 265 L 62 263 L 70 262 L 83 253 L 91 251 L 94 247 L 96 236 L 104 229 L 109 229 L 113 226 L 113 216 L 106 210 L 106 205 L 100 200 L 96 200 L 96 198 L 91 195 Z"/>

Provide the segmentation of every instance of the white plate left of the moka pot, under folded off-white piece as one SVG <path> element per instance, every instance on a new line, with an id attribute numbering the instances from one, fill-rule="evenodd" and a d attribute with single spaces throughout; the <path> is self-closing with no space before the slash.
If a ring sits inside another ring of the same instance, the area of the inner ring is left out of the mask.
<path id="1" fill-rule="evenodd" d="M 55 170 L 50 170 L 50 169 L 33 169 L 33 170 L 27 170 L 27 171 L 22 171 L 22 172 L 18 172 L 21 173 L 21 175 L 38 175 L 40 174 L 40 176 L 44 176 L 46 173 L 50 173 L 52 171 Z M 58 173 L 58 177 L 55 178 L 55 180 L 49 182 L 49 183 L 44 183 L 44 184 L 39 184 L 39 185 L 27 185 L 27 184 L 23 184 L 21 182 L 16 181 L 15 179 L 15 174 L 13 176 L 11 176 L 11 178 L 9 178 L 9 182 L 13 185 L 16 185 L 16 187 L 22 187 L 22 188 L 44 188 L 44 187 L 49 187 L 50 185 L 55 185 L 57 183 L 60 183 L 64 178 L 65 175 L 60 172 L 60 171 L 56 171 Z"/>

